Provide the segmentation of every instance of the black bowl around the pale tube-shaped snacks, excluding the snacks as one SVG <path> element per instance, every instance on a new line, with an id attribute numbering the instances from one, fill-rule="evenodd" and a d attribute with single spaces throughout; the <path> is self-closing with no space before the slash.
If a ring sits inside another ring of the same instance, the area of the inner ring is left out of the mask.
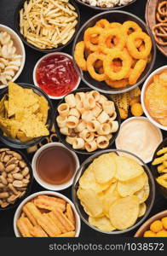
<path id="1" fill-rule="evenodd" d="M 78 90 L 72 90 L 72 92 L 70 92 L 69 94 L 75 94 L 75 93 L 77 93 L 77 92 L 82 92 L 82 91 L 83 91 L 83 92 L 86 92 L 86 91 L 91 91 L 91 90 L 92 90 L 92 89 L 90 89 L 90 88 L 80 88 L 80 89 L 78 89 Z M 110 96 L 107 96 L 107 95 L 105 95 L 105 94 L 103 94 L 103 93 L 101 93 L 101 95 L 106 96 L 109 101 L 112 101 L 112 99 L 111 99 Z M 60 105 L 61 103 L 64 103 L 64 102 L 65 102 L 65 100 L 64 100 L 64 98 L 63 98 L 63 99 L 59 102 L 57 108 L 59 107 L 59 105 Z M 112 102 L 113 102 L 113 101 L 112 101 Z M 114 133 L 112 134 L 112 138 L 110 139 L 110 143 L 109 143 L 109 145 L 108 145 L 107 148 L 110 148 L 110 147 L 112 146 L 112 143 L 115 142 L 116 137 L 118 137 L 118 132 L 119 132 L 119 129 L 120 129 L 120 124 L 121 124 L 121 119 L 120 119 L 120 114 L 119 114 L 119 111 L 118 111 L 118 107 L 117 107 L 117 105 L 116 105 L 115 103 L 114 103 L 114 105 L 115 105 L 115 110 L 116 110 L 116 113 L 117 113 L 117 118 L 116 118 L 116 120 L 118 121 L 118 131 L 116 131 L 116 132 L 114 132 Z M 81 149 L 80 149 L 80 150 L 79 150 L 79 149 L 77 150 L 77 149 L 72 148 L 72 145 L 70 145 L 69 143 L 66 143 L 66 136 L 60 133 L 60 128 L 59 128 L 59 126 L 57 125 L 57 122 L 56 122 L 56 118 L 57 118 L 58 115 L 59 115 L 59 113 L 58 113 L 58 111 L 56 111 L 56 113 L 55 113 L 55 131 L 56 131 L 57 137 L 60 137 L 61 143 L 63 143 L 67 148 L 69 148 L 69 149 L 75 151 L 75 152 L 78 153 L 78 154 L 95 154 L 96 152 L 99 152 L 99 151 L 102 150 L 101 148 L 99 148 L 99 149 L 96 149 L 96 150 L 93 151 L 93 152 L 88 152 L 88 151 L 86 151 L 86 150 L 81 150 Z"/>

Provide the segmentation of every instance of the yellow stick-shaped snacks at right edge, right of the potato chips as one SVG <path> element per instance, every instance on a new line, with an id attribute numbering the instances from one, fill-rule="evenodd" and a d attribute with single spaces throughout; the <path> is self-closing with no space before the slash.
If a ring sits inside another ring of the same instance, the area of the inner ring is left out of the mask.
<path id="1" fill-rule="evenodd" d="M 159 174 L 159 177 L 156 178 L 157 183 L 167 189 L 167 147 L 158 150 L 152 165 L 157 166 Z"/>

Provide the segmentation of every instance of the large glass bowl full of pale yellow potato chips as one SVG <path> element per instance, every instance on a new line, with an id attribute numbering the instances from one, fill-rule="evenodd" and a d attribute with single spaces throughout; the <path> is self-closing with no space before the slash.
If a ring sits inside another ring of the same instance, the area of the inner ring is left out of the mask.
<path id="1" fill-rule="evenodd" d="M 111 235 L 142 224 L 154 199 L 152 172 L 135 154 L 119 149 L 90 156 L 78 169 L 72 185 L 72 201 L 83 222 Z"/>

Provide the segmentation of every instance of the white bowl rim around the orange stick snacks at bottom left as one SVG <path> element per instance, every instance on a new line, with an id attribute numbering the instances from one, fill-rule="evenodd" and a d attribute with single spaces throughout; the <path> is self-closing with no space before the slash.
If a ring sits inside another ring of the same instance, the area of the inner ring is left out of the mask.
<path id="1" fill-rule="evenodd" d="M 17 208 L 17 210 L 15 211 L 15 214 L 14 214 L 14 234 L 15 234 L 15 236 L 21 237 L 20 231 L 17 228 L 17 220 L 18 220 L 18 218 L 20 218 L 20 214 L 22 212 L 22 207 L 26 204 L 26 202 L 31 201 L 34 197 L 37 197 L 37 195 L 54 195 L 54 196 L 60 197 L 61 199 L 65 200 L 66 202 L 68 202 L 71 205 L 72 211 L 75 215 L 75 221 L 76 221 L 75 237 L 78 237 L 80 230 L 81 230 L 81 220 L 79 218 L 78 212 L 76 211 L 71 200 L 69 200 L 65 195 L 61 195 L 60 193 L 57 193 L 54 191 L 41 191 L 41 192 L 34 193 L 34 194 L 26 197 L 26 199 L 20 203 L 19 207 Z"/>

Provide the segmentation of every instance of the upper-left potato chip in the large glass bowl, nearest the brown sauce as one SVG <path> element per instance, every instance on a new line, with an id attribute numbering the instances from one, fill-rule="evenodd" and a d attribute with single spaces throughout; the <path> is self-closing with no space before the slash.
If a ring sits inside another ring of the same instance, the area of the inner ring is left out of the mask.
<path id="1" fill-rule="evenodd" d="M 95 180 L 98 183 L 108 183 L 112 180 L 116 172 L 115 156 L 112 154 L 102 154 L 93 162 Z"/>

